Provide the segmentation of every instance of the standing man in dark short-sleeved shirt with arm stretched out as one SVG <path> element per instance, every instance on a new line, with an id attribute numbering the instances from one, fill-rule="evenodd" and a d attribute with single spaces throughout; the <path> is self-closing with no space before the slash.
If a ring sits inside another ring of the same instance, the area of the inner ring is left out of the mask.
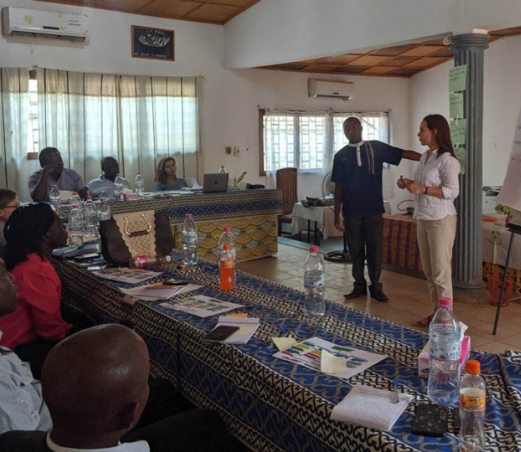
<path id="1" fill-rule="evenodd" d="M 383 163 L 398 165 L 401 159 L 419 161 L 421 154 L 389 146 L 381 141 L 364 142 L 361 139 L 361 122 L 351 117 L 344 121 L 343 130 L 349 144 L 334 156 L 331 180 L 334 190 L 334 225 L 345 230 L 352 258 L 352 277 L 355 287 L 345 298 L 357 298 L 367 293 L 364 278 L 364 261 L 371 285 L 371 297 L 381 302 L 389 301 L 382 291 L 382 196 Z M 340 207 L 344 224 L 340 222 Z"/>

